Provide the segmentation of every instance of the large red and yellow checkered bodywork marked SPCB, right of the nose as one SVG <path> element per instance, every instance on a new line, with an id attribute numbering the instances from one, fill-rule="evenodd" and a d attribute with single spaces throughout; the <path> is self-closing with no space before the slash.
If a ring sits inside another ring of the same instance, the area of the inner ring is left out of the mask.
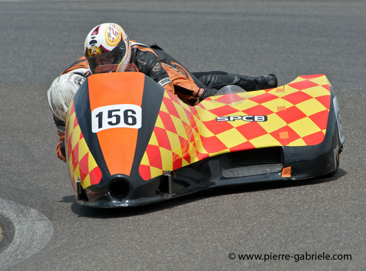
<path id="1" fill-rule="evenodd" d="M 209 97 L 188 106 L 165 92 L 139 167 L 144 180 L 207 157 L 324 140 L 330 108 L 324 75 L 297 77 L 274 89 Z M 217 121 L 221 116 L 266 116 L 266 121 Z"/>

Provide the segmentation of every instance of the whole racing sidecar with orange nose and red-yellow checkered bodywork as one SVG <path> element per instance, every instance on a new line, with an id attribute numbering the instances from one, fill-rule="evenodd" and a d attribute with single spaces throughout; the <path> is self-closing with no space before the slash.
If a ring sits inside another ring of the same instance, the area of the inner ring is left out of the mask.
<path id="1" fill-rule="evenodd" d="M 329 174 L 344 141 L 324 75 L 192 107 L 142 73 L 95 74 L 70 103 L 65 133 L 77 202 L 107 208 Z"/>

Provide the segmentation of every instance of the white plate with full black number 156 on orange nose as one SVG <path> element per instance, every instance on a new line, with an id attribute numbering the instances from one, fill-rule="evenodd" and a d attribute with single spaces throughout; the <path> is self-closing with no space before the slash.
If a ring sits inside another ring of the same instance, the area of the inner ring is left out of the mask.
<path id="1" fill-rule="evenodd" d="M 142 109 L 136 104 L 114 104 L 92 111 L 92 132 L 111 128 L 141 128 Z"/>

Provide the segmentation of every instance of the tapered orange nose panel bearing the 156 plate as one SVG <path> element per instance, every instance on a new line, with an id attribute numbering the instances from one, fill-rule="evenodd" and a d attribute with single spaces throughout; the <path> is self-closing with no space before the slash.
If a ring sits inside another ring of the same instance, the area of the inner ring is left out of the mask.
<path id="1" fill-rule="evenodd" d="M 108 170 L 111 175 L 129 175 L 142 125 L 144 75 L 96 74 L 88 77 L 88 85 L 92 130 L 97 133 Z"/>

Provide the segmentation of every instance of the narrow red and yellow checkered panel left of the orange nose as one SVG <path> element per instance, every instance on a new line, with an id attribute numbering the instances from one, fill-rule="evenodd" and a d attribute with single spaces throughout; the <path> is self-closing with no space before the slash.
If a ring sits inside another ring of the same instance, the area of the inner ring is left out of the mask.
<path id="1" fill-rule="evenodd" d="M 68 116 L 65 130 L 65 142 L 67 143 L 65 145 L 70 180 L 81 181 L 82 188 L 98 184 L 102 179 L 102 172 L 81 133 L 73 100 L 69 106 Z"/>

